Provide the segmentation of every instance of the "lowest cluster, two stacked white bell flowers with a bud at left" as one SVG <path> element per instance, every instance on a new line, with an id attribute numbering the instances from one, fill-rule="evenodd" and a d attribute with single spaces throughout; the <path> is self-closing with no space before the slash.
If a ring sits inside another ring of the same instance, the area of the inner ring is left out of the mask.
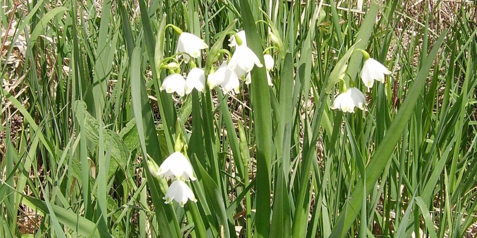
<path id="1" fill-rule="evenodd" d="M 186 184 L 187 181 L 194 181 L 197 178 L 194 176 L 191 163 L 184 154 L 178 151 L 172 153 L 160 167 L 157 167 L 154 161 L 148 160 L 148 167 L 152 175 L 159 178 L 169 177 L 174 180 L 163 197 L 164 203 L 168 204 L 172 200 L 176 200 L 181 207 L 184 207 L 188 200 L 197 202 L 194 193 Z"/>

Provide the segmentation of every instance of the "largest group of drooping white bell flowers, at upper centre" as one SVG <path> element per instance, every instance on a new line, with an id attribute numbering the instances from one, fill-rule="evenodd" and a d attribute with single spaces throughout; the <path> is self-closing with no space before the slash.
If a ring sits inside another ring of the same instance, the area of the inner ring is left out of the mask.
<path id="1" fill-rule="evenodd" d="M 235 94 L 240 90 L 240 81 L 245 81 L 245 84 L 250 84 L 250 71 L 256 67 L 263 67 L 263 64 L 258 59 L 258 56 L 247 47 L 245 31 L 239 31 L 231 35 L 229 39 L 229 46 L 234 49 L 231 54 L 226 49 L 221 49 L 219 52 L 229 55 L 228 61 L 224 61 L 218 68 L 210 67 L 206 77 L 207 70 L 197 68 L 194 63 L 194 58 L 198 58 L 201 53 L 200 50 L 208 48 L 208 45 L 200 37 L 191 33 L 182 32 L 179 28 L 169 25 L 179 34 L 179 39 L 176 48 L 176 57 L 167 57 L 166 60 L 173 59 L 174 63 L 161 64 L 162 68 L 169 69 L 170 75 L 167 76 L 160 87 L 160 90 L 165 90 L 167 93 L 177 93 L 183 97 L 192 92 L 195 88 L 199 92 L 203 92 L 207 84 L 209 89 L 216 86 L 220 87 L 224 93 Z M 182 55 L 185 64 L 191 65 L 191 70 L 184 78 L 180 72 L 180 64 L 178 56 Z M 212 55 L 213 56 L 213 55 Z M 270 71 L 274 67 L 274 59 L 271 54 L 265 53 L 265 67 L 267 69 L 268 84 L 273 86 Z M 207 79 L 207 80 L 206 80 Z"/>

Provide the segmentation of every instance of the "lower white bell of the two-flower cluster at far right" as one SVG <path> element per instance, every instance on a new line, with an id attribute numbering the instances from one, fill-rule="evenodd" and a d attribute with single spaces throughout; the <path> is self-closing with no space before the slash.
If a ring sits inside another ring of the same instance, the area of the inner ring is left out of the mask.
<path id="1" fill-rule="evenodd" d="M 351 87 L 334 99 L 331 109 L 339 108 L 343 112 L 355 112 L 355 107 L 364 110 L 364 105 L 366 105 L 366 99 L 363 93 L 359 89 Z"/>

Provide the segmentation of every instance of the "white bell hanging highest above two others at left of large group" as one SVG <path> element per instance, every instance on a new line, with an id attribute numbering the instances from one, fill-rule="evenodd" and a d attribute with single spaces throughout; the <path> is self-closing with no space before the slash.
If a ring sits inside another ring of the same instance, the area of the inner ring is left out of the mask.
<path id="1" fill-rule="evenodd" d="M 190 56 L 183 54 L 184 61 L 187 63 L 190 57 L 198 58 L 200 56 L 200 50 L 208 47 L 205 41 L 198 36 L 183 32 L 177 41 L 176 53 L 185 52 L 189 54 Z"/>

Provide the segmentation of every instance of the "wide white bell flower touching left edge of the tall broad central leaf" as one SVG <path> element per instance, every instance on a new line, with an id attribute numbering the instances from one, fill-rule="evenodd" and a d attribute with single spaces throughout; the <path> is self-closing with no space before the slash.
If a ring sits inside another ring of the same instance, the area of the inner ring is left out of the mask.
<path id="1" fill-rule="evenodd" d="M 235 52 L 229 64 L 227 64 L 227 69 L 235 70 L 235 68 L 240 67 L 248 73 L 253 69 L 253 65 L 258 68 L 263 67 L 257 55 L 250 48 L 246 45 L 240 45 L 235 48 Z"/>

